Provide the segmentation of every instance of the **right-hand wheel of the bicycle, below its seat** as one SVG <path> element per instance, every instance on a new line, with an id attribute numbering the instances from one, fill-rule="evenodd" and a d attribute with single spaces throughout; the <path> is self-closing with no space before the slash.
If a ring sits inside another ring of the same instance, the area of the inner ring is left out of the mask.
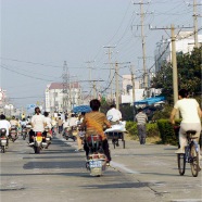
<path id="1" fill-rule="evenodd" d="M 190 166 L 191 166 L 191 173 L 193 177 L 198 176 L 199 173 L 199 152 L 195 150 L 195 146 L 194 143 L 191 144 L 191 162 L 190 162 Z"/>

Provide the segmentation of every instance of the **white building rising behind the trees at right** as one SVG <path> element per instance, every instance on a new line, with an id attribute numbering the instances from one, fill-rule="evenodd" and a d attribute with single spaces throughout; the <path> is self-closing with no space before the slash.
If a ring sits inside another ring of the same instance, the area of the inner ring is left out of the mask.
<path id="1" fill-rule="evenodd" d="M 199 43 L 202 42 L 202 35 L 198 35 Z M 176 38 L 176 52 L 177 53 L 188 53 L 193 50 L 194 47 L 194 36 L 192 31 L 180 31 Z M 171 39 L 162 38 L 161 41 L 156 43 L 154 51 L 155 60 L 155 72 L 161 70 L 162 64 L 172 61 L 172 42 Z"/>

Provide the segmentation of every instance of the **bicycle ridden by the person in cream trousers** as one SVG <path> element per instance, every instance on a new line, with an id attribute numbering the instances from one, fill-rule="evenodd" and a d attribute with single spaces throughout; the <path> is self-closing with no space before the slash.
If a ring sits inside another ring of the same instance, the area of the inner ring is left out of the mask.
<path id="1" fill-rule="evenodd" d="M 186 172 L 186 163 L 190 163 L 191 173 L 193 177 L 197 177 L 200 172 L 199 166 L 199 147 L 198 142 L 194 140 L 197 137 L 195 130 L 188 130 L 186 131 L 188 144 L 185 148 L 185 153 L 177 154 L 178 161 L 178 171 L 179 175 L 184 175 Z"/>

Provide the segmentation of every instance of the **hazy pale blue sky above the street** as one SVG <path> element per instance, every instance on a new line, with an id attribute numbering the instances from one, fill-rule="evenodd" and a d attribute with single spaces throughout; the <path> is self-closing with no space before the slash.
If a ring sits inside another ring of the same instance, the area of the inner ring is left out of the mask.
<path id="1" fill-rule="evenodd" d="M 0 87 L 17 108 L 45 99 L 48 84 L 62 81 L 67 63 L 72 81 L 90 91 L 91 79 L 109 92 L 111 62 L 118 62 L 119 79 L 142 74 L 139 0 L 0 0 Z M 155 43 L 171 30 L 150 29 L 193 26 L 193 0 L 142 0 L 147 68 L 154 63 Z M 200 0 L 197 1 L 201 3 Z M 198 13 L 201 12 L 198 7 Z M 201 18 L 199 17 L 199 27 Z M 188 30 L 188 29 L 186 29 Z M 192 30 L 190 28 L 189 30 Z M 176 29 L 176 33 L 179 29 Z M 90 62 L 90 63 L 88 63 Z M 85 81 L 84 81 L 85 80 Z"/>

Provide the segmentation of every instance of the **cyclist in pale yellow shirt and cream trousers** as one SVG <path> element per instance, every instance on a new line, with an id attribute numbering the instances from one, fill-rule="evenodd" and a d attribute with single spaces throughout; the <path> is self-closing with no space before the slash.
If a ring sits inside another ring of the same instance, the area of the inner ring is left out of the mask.
<path id="1" fill-rule="evenodd" d="M 180 148 L 175 153 L 185 153 L 185 147 L 187 146 L 187 130 L 195 130 L 197 142 L 199 143 L 201 132 L 201 109 L 195 99 L 189 98 L 188 91 L 181 89 L 178 92 L 179 100 L 175 103 L 171 113 L 169 121 L 175 124 L 175 115 L 177 111 L 180 112 L 182 121 L 179 129 L 179 144 Z"/>

